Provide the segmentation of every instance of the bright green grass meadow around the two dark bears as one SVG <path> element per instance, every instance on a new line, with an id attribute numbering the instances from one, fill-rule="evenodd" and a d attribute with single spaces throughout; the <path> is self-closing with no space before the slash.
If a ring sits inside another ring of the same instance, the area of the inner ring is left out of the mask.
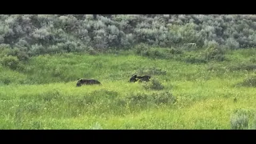
<path id="1" fill-rule="evenodd" d="M 234 129 L 246 121 L 238 112 L 249 121 L 242 128 L 255 129 L 256 90 L 238 86 L 255 71 L 232 67 L 253 64 L 255 54 L 229 51 L 228 61 L 199 64 L 57 54 L 34 57 L 20 71 L 0 66 L 0 129 Z M 132 74 L 150 74 L 156 83 L 130 83 Z M 76 87 L 78 78 L 102 86 Z"/>

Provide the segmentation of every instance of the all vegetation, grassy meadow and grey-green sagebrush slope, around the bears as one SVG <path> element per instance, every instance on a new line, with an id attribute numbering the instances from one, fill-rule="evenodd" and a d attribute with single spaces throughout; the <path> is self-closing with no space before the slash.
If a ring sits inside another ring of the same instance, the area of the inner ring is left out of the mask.
<path id="1" fill-rule="evenodd" d="M 255 18 L 2 14 L 0 129 L 255 129 Z"/>

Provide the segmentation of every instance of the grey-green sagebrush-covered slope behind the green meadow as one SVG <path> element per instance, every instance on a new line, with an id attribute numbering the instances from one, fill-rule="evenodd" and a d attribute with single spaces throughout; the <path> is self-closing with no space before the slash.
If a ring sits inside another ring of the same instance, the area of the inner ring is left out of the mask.
<path id="1" fill-rule="evenodd" d="M 156 47 L 256 45 L 254 14 L 2 14 L 0 47 L 23 55 Z M 18 52 L 17 52 L 18 53 Z"/>

